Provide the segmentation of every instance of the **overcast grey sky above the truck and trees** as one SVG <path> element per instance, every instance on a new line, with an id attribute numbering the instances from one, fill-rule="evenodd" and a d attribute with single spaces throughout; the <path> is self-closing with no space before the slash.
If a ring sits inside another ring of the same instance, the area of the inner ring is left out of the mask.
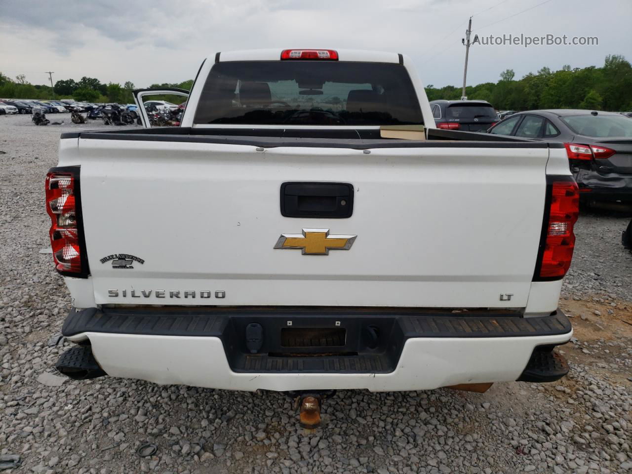
<path id="1" fill-rule="evenodd" d="M 411 56 L 425 85 L 463 82 L 468 16 L 479 35 L 597 36 L 599 46 L 470 49 L 468 85 L 542 66 L 632 61 L 632 0 L 0 0 L 0 71 L 32 83 L 82 76 L 137 87 L 193 78 L 216 51 L 379 49 Z M 525 13 L 520 11 L 536 6 Z M 507 18 L 509 16 L 512 18 Z M 492 24 L 493 23 L 493 24 Z"/>

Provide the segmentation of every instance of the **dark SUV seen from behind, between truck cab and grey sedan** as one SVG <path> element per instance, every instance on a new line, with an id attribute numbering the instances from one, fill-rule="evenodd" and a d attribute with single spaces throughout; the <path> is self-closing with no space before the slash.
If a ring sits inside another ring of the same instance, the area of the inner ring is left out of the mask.
<path id="1" fill-rule="evenodd" d="M 437 128 L 485 131 L 498 121 L 494 107 L 485 100 L 432 100 Z"/>

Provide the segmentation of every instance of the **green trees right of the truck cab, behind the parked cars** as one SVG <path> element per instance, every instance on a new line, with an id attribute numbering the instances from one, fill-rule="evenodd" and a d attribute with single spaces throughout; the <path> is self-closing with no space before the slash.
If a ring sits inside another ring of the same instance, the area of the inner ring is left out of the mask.
<path id="1" fill-rule="evenodd" d="M 514 71 L 501 73 L 498 82 L 485 82 L 465 88 L 468 99 L 487 100 L 499 110 L 591 109 L 632 111 L 632 66 L 623 56 L 605 57 L 604 66 L 559 71 L 542 68 L 520 80 Z M 461 87 L 426 87 L 429 100 L 461 98 Z"/>

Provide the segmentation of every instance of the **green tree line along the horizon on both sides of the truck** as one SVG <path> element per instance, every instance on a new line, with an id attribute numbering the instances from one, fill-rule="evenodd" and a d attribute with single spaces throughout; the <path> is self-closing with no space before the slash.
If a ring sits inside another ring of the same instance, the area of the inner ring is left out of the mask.
<path id="1" fill-rule="evenodd" d="M 565 65 L 559 71 L 544 67 L 516 80 L 514 71 L 501 73 L 498 82 L 485 82 L 466 87 L 468 99 L 487 100 L 500 110 L 592 109 L 632 111 L 632 66 L 623 56 L 605 57 L 604 66 L 574 68 Z M 178 87 L 190 90 L 193 80 L 180 83 L 152 84 L 150 87 Z M 54 91 L 50 86 L 32 85 L 24 75 L 12 80 L 0 72 L 0 97 L 8 99 L 75 99 L 86 102 L 133 102 L 133 83 L 101 83 L 98 79 L 58 80 Z M 461 97 L 461 88 L 453 85 L 426 87 L 429 100 Z"/>

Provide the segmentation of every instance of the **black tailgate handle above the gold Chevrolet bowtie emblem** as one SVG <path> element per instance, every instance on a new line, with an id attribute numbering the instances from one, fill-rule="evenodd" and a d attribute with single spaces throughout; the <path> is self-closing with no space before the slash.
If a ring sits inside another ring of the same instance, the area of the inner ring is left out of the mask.
<path id="1" fill-rule="evenodd" d="M 281 215 L 344 219 L 353 214 L 353 185 L 349 183 L 297 183 L 281 185 Z"/>

